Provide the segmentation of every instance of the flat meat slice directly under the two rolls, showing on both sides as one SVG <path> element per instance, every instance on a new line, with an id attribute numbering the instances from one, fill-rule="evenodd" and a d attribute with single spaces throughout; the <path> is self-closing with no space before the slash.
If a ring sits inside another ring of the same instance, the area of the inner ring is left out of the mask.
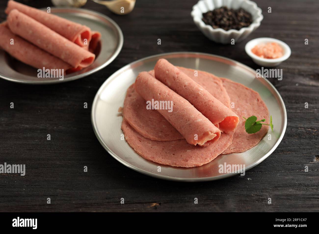
<path id="1" fill-rule="evenodd" d="M 229 96 L 223 87 L 222 81 L 213 74 L 178 67 L 182 72 L 201 84 L 211 95 L 230 107 Z M 154 70 L 149 72 L 152 76 Z M 124 100 L 123 117 L 142 136 L 151 140 L 171 141 L 182 139 L 183 136 L 157 110 L 147 110 L 145 100 L 136 92 L 134 84 L 128 88 Z"/>

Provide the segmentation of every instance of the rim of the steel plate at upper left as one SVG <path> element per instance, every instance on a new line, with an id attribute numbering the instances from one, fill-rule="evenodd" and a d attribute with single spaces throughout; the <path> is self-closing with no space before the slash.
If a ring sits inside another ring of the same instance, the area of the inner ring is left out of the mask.
<path id="1" fill-rule="evenodd" d="M 40 8 L 39 10 L 47 10 L 46 8 Z M 7 81 L 11 81 L 11 82 L 16 82 L 16 83 L 22 83 L 22 84 L 36 84 L 36 85 L 46 85 L 46 84 L 57 84 L 57 83 L 63 83 L 63 82 L 69 82 L 69 81 L 74 81 L 80 78 L 83 78 L 85 76 L 91 75 L 97 71 L 100 71 L 101 69 L 103 69 L 104 67 L 108 66 L 111 62 L 113 62 L 115 60 L 115 58 L 119 55 L 119 53 L 122 50 L 123 47 L 123 42 L 124 42 L 124 37 L 123 37 L 123 32 L 120 28 L 120 26 L 118 24 L 115 23 L 115 21 L 111 18 L 109 18 L 107 15 L 104 15 L 98 11 L 93 11 L 90 9 L 85 9 L 85 8 L 74 8 L 74 7 L 51 7 L 51 11 L 54 10 L 76 10 L 78 12 L 81 13 L 93 13 L 96 16 L 100 16 L 102 18 L 105 18 L 106 20 L 108 20 L 116 29 L 117 33 L 119 34 L 119 43 L 118 46 L 116 47 L 115 52 L 113 53 L 113 55 L 103 64 L 101 64 L 98 67 L 93 68 L 90 71 L 87 71 L 85 73 L 82 74 L 78 74 L 78 75 L 74 75 L 74 76 L 70 76 L 67 77 L 66 79 L 63 79 L 62 81 L 60 80 L 51 80 L 51 81 L 26 81 L 26 80 L 17 80 L 14 79 L 12 77 L 8 77 L 5 76 L 3 74 L 0 73 L 0 78 L 3 78 L 4 80 Z M 52 12 L 54 14 L 54 12 Z"/>

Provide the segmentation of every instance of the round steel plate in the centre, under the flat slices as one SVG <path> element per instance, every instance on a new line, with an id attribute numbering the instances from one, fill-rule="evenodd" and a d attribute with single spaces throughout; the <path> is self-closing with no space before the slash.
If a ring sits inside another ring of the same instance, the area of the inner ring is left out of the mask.
<path id="1" fill-rule="evenodd" d="M 123 106 L 126 89 L 135 81 L 139 72 L 152 70 L 156 61 L 165 58 L 176 66 L 210 72 L 242 83 L 257 91 L 273 117 L 272 140 L 267 135 L 255 147 L 242 153 L 219 155 L 201 167 L 181 168 L 160 165 L 139 156 L 125 141 L 121 140 L 122 117 L 118 114 Z M 204 53 L 164 53 L 137 60 L 111 75 L 97 92 L 92 106 L 92 125 L 103 147 L 127 167 L 146 175 L 173 181 L 211 181 L 238 173 L 219 173 L 219 165 L 242 164 L 245 170 L 265 160 L 279 145 L 287 125 L 285 104 L 275 87 L 265 78 L 256 78 L 253 69 L 224 57 Z M 158 172 L 161 166 L 161 172 Z M 119 172 L 121 173 L 121 172 Z"/>

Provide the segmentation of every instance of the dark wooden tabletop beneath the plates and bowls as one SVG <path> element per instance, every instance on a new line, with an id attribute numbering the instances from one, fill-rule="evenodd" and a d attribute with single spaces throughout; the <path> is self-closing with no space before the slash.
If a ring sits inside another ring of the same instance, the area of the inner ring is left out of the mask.
<path id="1" fill-rule="evenodd" d="M 88 0 L 85 8 L 106 14 L 121 27 L 122 51 L 106 68 L 72 82 L 37 86 L 0 80 L 0 164 L 26 164 L 25 176 L 0 174 L 0 211 L 319 211 L 319 1 L 255 2 L 263 10 L 261 26 L 241 43 L 220 45 L 193 23 L 190 11 L 197 0 L 137 0 L 126 16 Z M 50 1 L 24 3 L 51 6 Z M 5 6 L 1 0 L 2 20 Z M 272 13 L 267 13 L 269 6 Z M 244 46 L 258 37 L 280 39 L 291 47 L 291 57 L 277 67 L 283 69 L 283 80 L 270 78 L 286 104 L 288 124 L 278 148 L 244 177 L 163 181 L 125 167 L 100 145 L 91 105 L 116 70 L 175 51 L 217 54 L 257 69 Z M 125 204 L 120 204 L 122 197 Z"/>

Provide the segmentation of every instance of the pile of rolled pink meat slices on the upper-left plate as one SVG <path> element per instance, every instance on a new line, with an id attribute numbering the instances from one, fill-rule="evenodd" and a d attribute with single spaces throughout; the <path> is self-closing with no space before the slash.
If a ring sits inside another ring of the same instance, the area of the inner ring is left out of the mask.
<path id="1" fill-rule="evenodd" d="M 35 68 L 77 71 L 95 60 L 99 32 L 13 0 L 0 24 L 0 47 Z"/>

